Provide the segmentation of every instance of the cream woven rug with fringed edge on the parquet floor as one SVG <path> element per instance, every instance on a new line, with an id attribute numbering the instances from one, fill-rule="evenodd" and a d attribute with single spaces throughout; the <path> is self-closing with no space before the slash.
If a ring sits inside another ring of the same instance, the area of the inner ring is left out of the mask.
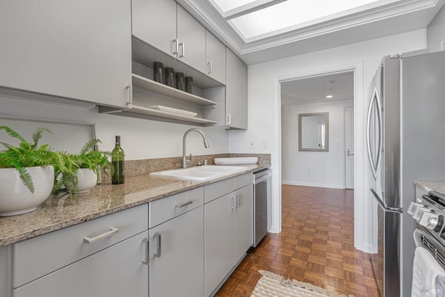
<path id="1" fill-rule="evenodd" d="M 286 280 L 281 275 L 269 271 L 258 271 L 263 275 L 257 282 L 251 297 L 309 297 L 309 296 L 344 296 L 326 291 L 314 284 L 298 280 Z"/>

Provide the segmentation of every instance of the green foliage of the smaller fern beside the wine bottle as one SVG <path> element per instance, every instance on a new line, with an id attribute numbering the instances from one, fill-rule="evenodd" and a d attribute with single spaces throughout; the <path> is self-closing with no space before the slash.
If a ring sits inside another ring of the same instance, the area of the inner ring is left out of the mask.
<path id="1" fill-rule="evenodd" d="M 94 170 L 99 174 L 99 170 L 104 170 L 107 173 L 113 171 L 113 166 L 108 160 L 111 156 L 111 152 L 104 152 L 97 150 L 97 144 L 102 143 L 99 139 L 92 139 L 88 141 L 79 154 L 71 154 L 71 159 L 79 166 L 79 168 L 88 168 Z"/>

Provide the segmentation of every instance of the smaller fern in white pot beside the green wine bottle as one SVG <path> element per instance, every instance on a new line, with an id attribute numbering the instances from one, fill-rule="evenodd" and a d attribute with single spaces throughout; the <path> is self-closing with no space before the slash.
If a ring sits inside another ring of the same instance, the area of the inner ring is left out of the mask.
<path id="1" fill-rule="evenodd" d="M 111 152 L 104 152 L 97 149 L 97 144 L 102 143 L 99 139 L 88 141 L 79 154 L 71 154 L 70 158 L 76 163 L 79 169 L 76 172 L 77 193 L 86 193 L 97 184 L 97 177 L 100 170 L 109 172 L 113 170 L 108 158 Z"/>

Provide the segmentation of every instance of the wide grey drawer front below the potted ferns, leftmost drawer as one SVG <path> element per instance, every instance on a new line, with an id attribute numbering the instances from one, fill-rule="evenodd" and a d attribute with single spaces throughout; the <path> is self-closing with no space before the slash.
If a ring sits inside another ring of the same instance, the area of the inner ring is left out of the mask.
<path id="1" fill-rule="evenodd" d="M 86 223 L 20 241 L 13 245 L 13 287 L 17 288 L 99 250 L 147 230 L 147 204 Z M 84 239 L 117 228 L 118 232 L 86 243 Z M 118 256 L 118 255 L 117 255 Z"/>

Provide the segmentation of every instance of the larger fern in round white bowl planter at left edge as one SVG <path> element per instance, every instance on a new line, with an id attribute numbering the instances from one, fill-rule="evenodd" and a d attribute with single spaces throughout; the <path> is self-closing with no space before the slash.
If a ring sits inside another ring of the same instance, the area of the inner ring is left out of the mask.
<path id="1" fill-rule="evenodd" d="M 13 216 L 33 211 L 46 200 L 54 188 L 54 177 L 76 185 L 73 174 L 77 168 L 70 156 L 51 150 L 49 145 L 39 145 L 43 133 L 51 133 L 39 128 L 32 135 L 32 142 L 8 126 L 0 126 L 0 131 L 19 141 L 18 146 L 1 142 L 6 148 L 0 151 L 0 216 Z"/>

